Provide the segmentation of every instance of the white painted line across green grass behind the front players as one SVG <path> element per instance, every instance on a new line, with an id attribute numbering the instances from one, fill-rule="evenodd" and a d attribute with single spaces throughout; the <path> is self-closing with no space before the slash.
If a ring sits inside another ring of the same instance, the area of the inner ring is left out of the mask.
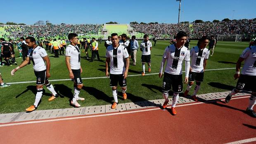
<path id="1" fill-rule="evenodd" d="M 212 70 L 230 70 L 230 69 L 235 69 L 235 67 L 233 68 L 220 68 L 220 69 L 210 69 L 210 70 L 206 70 L 206 71 L 212 71 Z M 185 71 L 183 71 L 185 72 Z M 159 73 L 152 73 L 152 74 L 146 74 L 147 75 L 154 75 L 154 74 L 159 74 Z M 134 77 L 134 76 L 141 76 L 141 74 L 133 74 L 133 75 L 128 75 L 128 77 Z M 82 78 L 82 79 L 106 79 L 107 77 L 87 77 L 87 78 Z M 49 81 L 70 81 L 71 79 L 52 79 Z M 36 81 L 20 81 L 20 82 L 12 82 L 12 83 L 8 83 L 8 84 L 25 84 L 25 83 L 35 83 Z"/>

